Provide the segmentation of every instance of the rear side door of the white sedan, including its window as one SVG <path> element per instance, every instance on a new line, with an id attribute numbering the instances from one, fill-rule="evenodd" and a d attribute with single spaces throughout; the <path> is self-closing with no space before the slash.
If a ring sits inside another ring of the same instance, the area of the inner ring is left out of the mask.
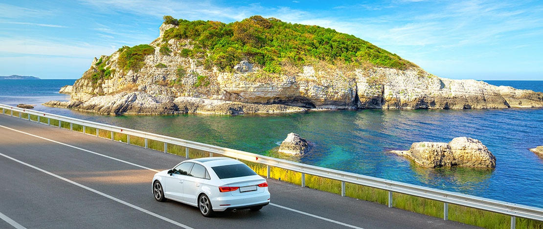
<path id="1" fill-rule="evenodd" d="M 194 164 L 191 170 L 191 174 L 187 176 L 184 186 L 184 201 L 197 204 L 198 193 L 200 193 L 201 185 L 209 180 L 209 174 L 204 166 L 201 164 Z"/>

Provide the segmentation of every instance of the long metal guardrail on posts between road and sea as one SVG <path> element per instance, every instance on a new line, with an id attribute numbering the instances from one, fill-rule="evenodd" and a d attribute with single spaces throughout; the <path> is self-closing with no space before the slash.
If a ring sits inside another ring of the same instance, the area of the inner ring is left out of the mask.
<path id="1" fill-rule="evenodd" d="M 14 112 L 18 112 L 19 118 L 22 118 L 22 114 L 28 114 L 27 119 L 30 120 L 31 115 L 37 117 L 37 122 L 40 122 L 40 118 L 47 118 L 47 123 L 50 125 L 50 119 L 55 119 L 59 121 L 59 127 L 61 122 L 77 124 L 83 126 L 83 132 L 85 133 L 85 126 L 90 128 L 96 128 L 97 136 L 99 130 L 111 131 L 111 139 L 113 139 L 113 133 L 123 133 L 127 135 L 127 143 L 130 144 L 130 136 L 141 137 L 145 139 L 145 147 L 147 148 L 147 139 L 152 139 L 154 141 L 159 141 L 164 143 L 164 152 L 167 152 L 167 145 L 174 144 L 180 145 L 186 148 L 186 157 L 188 158 L 188 149 L 197 149 L 210 152 L 212 154 L 220 154 L 227 157 L 238 158 L 245 161 L 255 162 L 264 164 L 267 166 L 267 176 L 270 177 L 270 166 L 277 167 L 287 170 L 296 171 L 302 174 L 301 176 L 301 185 L 305 187 L 305 174 L 325 177 L 327 179 L 337 180 L 342 182 L 342 196 L 345 196 L 345 183 L 353 183 L 356 185 L 368 186 L 372 188 L 378 188 L 388 191 L 388 206 L 392 207 L 393 199 L 392 193 L 402 193 L 407 195 L 418 196 L 421 198 L 437 200 L 444 202 L 444 220 L 448 219 L 448 204 L 452 203 L 454 205 L 460 205 L 470 208 L 482 209 L 484 211 L 496 212 L 505 215 L 511 216 L 511 228 L 515 228 L 515 217 L 539 220 L 543 221 L 543 209 L 536 208 L 525 205 L 518 205 L 515 203 L 509 203 L 504 201 L 492 200 L 487 198 L 480 198 L 472 195 L 465 195 L 460 193 L 448 192 L 444 190 L 427 188 L 416 185 L 409 185 L 407 183 L 391 181 L 386 179 L 380 179 L 371 176 L 359 175 L 354 173 L 348 173 L 345 171 L 339 171 L 334 169 L 327 169 L 317 166 L 311 166 L 308 164 L 302 164 L 298 162 L 292 162 L 287 160 L 282 160 L 279 158 L 268 157 L 258 154 L 253 154 L 251 152 L 245 152 L 241 150 L 234 150 L 229 148 L 217 147 L 214 145 L 187 141 L 184 139 L 168 137 L 163 135 L 157 135 L 155 133 L 148 133 L 138 130 L 132 130 L 127 128 L 121 128 L 118 126 L 112 126 L 107 124 L 95 123 L 86 120 L 70 118 L 65 116 L 54 115 L 45 112 L 39 112 L 28 109 L 20 109 L 18 107 L 8 106 L 0 104 L 2 108 L 2 113 L 4 115 L 13 116 Z"/>

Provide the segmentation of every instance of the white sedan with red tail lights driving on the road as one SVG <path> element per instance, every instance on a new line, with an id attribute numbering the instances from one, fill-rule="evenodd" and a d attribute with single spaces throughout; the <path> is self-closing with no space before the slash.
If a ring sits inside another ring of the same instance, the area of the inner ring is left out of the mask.
<path id="1" fill-rule="evenodd" d="M 251 209 L 270 202 L 268 183 L 246 164 L 229 157 L 205 157 L 179 163 L 153 177 L 155 200 L 197 206 L 204 217 L 213 212 Z"/>

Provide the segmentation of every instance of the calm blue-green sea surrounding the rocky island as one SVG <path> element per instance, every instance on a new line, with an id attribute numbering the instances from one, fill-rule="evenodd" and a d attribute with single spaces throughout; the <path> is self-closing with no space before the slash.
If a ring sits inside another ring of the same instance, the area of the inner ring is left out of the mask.
<path id="1" fill-rule="evenodd" d="M 315 166 L 543 207 L 543 109 L 359 110 L 284 115 L 103 116 L 40 105 L 68 100 L 61 86 L 74 80 L 2 80 L 0 103 L 255 152 Z M 543 92 L 543 81 L 487 81 Z M 290 132 L 314 144 L 302 157 L 276 152 Z M 389 154 L 420 141 L 479 139 L 496 156 L 496 169 L 427 169 Z"/>

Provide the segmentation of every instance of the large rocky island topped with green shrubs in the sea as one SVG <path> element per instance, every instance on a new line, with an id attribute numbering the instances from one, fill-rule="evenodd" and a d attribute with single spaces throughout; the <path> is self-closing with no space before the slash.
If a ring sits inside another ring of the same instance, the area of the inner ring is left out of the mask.
<path id="1" fill-rule="evenodd" d="M 70 101 L 44 105 L 111 115 L 543 107 L 541 92 L 440 78 L 355 36 L 261 16 L 165 16 L 156 40 L 94 58 L 63 92 Z"/>

